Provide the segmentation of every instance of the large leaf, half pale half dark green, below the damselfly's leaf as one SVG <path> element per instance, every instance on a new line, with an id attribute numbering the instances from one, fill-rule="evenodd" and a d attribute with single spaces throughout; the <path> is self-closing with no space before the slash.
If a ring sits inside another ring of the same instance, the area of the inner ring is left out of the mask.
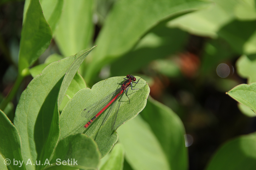
<path id="1" fill-rule="evenodd" d="M 117 132 L 125 159 L 133 169 L 187 169 L 185 130 L 180 118 L 163 104 L 149 98 L 136 118 Z"/>

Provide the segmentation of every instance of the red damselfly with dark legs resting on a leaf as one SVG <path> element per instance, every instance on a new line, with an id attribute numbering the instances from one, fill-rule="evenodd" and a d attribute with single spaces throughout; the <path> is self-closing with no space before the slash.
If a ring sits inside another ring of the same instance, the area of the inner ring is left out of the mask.
<path id="1" fill-rule="evenodd" d="M 82 116 L 83 117 L 86 117 L 87 118 L 92 118 L 89 122 L 87 122 L 84 127 L 85 128 L 88 128 L 88 126 L 98 117 L 100 116 L 100 114 L 102 112 L 104 112 L 110 105 L 111 107 L 107 110 L 107 113 L 105 113 L 105 116 L 103 118 L 103 122 L 102 124 L 104 124 L 104 122 L 106 122 L 108 116 L 110 115 L 110 113 L 112 112 L 113 110 L 113 107 L 115 106 L 115 103 L 117 101 L 117 98 L 119 96 L 120 97 L 120 100 L 121 98 L 123 97 L 122 94 L 125 93 L 125 95 L 128 97 L 127 95 L 127 91 L 129 89 L 129 87 L 131 86 L 131 89 L 132 89 L 132 83 L 138 83 L 139 80 L 137 82 L 136 81 L 136 78 L 132 75 L 127 75 L 126 78 L 124 78 L 124 83 L 121 84 L 121 87 L 118 88 L 116 91 L 112 92 L 111 94 L 109 94 L 108 96 L 106 96 L 105 98 L 97 101 L 96 103 L 92 104 L 91 106 L 87 107 L 84 109 L 84 111 L 82 112 Z M 141 90 L 141 89 L 132 89 L 132 90 Z M 125 91 L 125 92 L 124 92 Z M 129 97 L 128 97 L 129 99 Z M 115 121 L 116 121 L 116 116 L 117 116 L 117 113 L 118 113 L 118 109 L 120 107 L 120 100 L 119 100 L 119 103 L 117 104 L 116 106 L 116 111 L 115 111 L 115 115 L 114 115 L 114 118 L 115 120 L 113 120 L 113 124 L 112 124 L 112 129 L 114 128 L 114 124 L 115 124 Z M 130 99 L 129 99 L 129 102 L 130 102 Z M 94 117 L 92 117 L 94 116 Z"/>

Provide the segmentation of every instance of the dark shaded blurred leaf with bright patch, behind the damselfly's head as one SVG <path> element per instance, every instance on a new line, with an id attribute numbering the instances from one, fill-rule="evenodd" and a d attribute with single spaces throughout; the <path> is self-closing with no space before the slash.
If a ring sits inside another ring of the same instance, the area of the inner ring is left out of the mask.
<path id="1" fill-rule="evenodd" d="M 187 36 L 187 33 L 179 29 L 167 28 L 165 22 L 156 26 L 139 41 L 132 51 L 111 64 L 111 75 L 136 72 L 152 60 L 176 53 L 185 44 Z M 131 65 L 132 67 L 124 67 L 124 59 L 125 65 Z"/>

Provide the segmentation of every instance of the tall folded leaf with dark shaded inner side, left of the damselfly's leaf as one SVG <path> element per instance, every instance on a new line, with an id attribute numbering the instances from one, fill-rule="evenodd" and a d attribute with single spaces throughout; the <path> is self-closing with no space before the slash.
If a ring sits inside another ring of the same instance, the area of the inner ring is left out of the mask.
<path id="1" fill-rule="evenodd" d="M 39 160 L 37 158 L 44 161 L 51 156 L 60 133 L 58 104 L 78 67 L 93 48 L 48 65 L 22 92 L 14 124 L 20 133 L 22 150 L 27 151 L 22 152 L 25 161 L 31 159 L 34 164 Z M 27 165 L 26 168 L 34 169 L 34 166 Z"/>

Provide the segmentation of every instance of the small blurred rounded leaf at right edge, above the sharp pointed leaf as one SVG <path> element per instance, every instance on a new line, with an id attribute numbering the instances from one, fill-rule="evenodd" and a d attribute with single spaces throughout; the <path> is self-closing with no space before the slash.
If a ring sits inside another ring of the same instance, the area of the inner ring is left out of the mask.
<path id="1" fill-rule="evenodd" d="M 247 78 L 247 83 L 256 82 L 256 55 L 242 55 L 236 61 L 237 73 Z"/>

